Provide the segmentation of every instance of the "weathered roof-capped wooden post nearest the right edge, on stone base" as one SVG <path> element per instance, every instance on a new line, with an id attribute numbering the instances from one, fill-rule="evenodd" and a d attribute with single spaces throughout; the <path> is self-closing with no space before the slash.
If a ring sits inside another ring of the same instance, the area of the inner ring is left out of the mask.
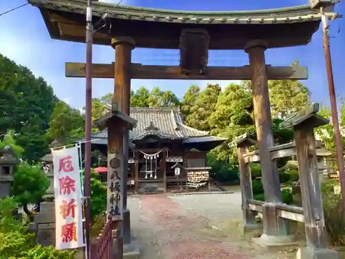
<path id="1" fill-rule="evenodd" d="M 319 104 L 312 104 L 301 113 L 290 116 L 282 126 L 293 126 L 301 184 L 306 248 L 299 249 L 297 258 L 339 258 L 337 251 L 328 249 L 327 231 L 324 222 L 314 128 L 328 124 L 328 119 L 317 115 Z M 337 213 L 335 211 L 335 213 Z"/>

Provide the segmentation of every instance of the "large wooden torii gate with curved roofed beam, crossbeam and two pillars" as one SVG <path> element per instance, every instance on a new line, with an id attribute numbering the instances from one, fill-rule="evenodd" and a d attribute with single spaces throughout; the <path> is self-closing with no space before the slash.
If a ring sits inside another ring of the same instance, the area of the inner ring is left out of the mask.
<path id="1" fill-rule="evenodd" d="M 52 38 L 85 42 L 86 1 L 29 2 L 41 10 Z M 331 3 L 331 0 L 322 2 Z M 95 32 L 93 42 L 111 45 L 115 49 L 115 64 L 93 64 L 92 76 L 115 79 L 114 113 L 129 115 L 130 79 L 251 79 L 257 144 L 261 156 L 265 196 L 268 198 L 266 201 L 273 204 L 281 202 L 278 174 L 269 152 L 269 148 L 273 146 L 273 132 L 270 128 L 268 79 L 307 79 L 308 76 L 306 68 L 303 67 L 266 65 L 264 52 L 267 48 L 308 44 L 319 28 L 319 11 L 306 5 L 241 12 L 181 12 L 117 6 L 95 1 L 93 12 L 95 22 L 104 12 L 108 12 L 108 24 L 111 25 Z M 336 16 L 334 13 L 326 13 L 329 18 L 334 15 Z M 135 47 L 179 49 L 180 65 L 132 64 L 131 53 Z M 207 67 L 208 50 L 245 50 L 248 53 L 249 65 Z M 66 76 L 85 77 L 85 64 L 66 64 Z M 124 148 L 121 133 L 117 131 L 118 125 L 115 120 L 107 123 L 108 153 L 121 153 Z M 122 157 L 123 162 L 128 160 L 127 155 L 125 153 Z M 126 209 L 126 188 L 121 206 Z M 279 236 L 285 232 L 286 220 L 273 218 L 272 221 L 270 235 Z M 130 234 L 129 211 L 124 214 L 124 225 L 126 242 L 126 235 Z"/>

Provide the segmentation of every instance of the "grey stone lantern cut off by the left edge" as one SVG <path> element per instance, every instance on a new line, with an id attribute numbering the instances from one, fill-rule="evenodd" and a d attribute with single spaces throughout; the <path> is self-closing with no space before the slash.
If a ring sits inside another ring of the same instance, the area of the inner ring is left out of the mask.
<path id="1" fill-rule="evenodd" d="M 11 184 L 14 180 L 14 170 L 19 164 L 19 160 L 14 157 L 14 152 L 10 145 L 5 146 L 0 157 L 0 198 L 10 195 Z"/>

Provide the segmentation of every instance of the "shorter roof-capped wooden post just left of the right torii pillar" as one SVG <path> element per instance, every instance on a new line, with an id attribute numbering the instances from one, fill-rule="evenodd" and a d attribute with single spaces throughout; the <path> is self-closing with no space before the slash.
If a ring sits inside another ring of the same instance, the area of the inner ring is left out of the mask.
<path id="1" fill-rule="evenodd" d="M 242 196 L 242 213 L 243 213 L 243 225 L 244 233 L 253 231 L 255 229 L 261 229 L 262 226 L 257 224 L 255 220 L 255 214 L 250 211 L 248 200 L 253 200 L 253 188 L 252 178 L 250 173 L 250 167 L 246 161 L 244 161 L 244 154 L 248 152 L 249 146 L 253 146 L 255 140 L 250 138 L 248 133 L 244 133 L 235 140 L 233 140 L 229 146 L 237 147 L 237 160 L 239 163 L 239 180 L 241 184 L 241 196 Z"/>

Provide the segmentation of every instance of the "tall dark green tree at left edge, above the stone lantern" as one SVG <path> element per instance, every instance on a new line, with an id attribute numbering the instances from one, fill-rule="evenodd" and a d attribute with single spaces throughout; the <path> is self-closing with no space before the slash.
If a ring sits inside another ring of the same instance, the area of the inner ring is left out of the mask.
<path id="1" fill-rule="evenodd" d="M 48 143 L 42 136 L 56 102 L 42 77 L 0 55 L 0 135 L 14 130 L 24 160 L 36 161 L 46 153 Z"/>

